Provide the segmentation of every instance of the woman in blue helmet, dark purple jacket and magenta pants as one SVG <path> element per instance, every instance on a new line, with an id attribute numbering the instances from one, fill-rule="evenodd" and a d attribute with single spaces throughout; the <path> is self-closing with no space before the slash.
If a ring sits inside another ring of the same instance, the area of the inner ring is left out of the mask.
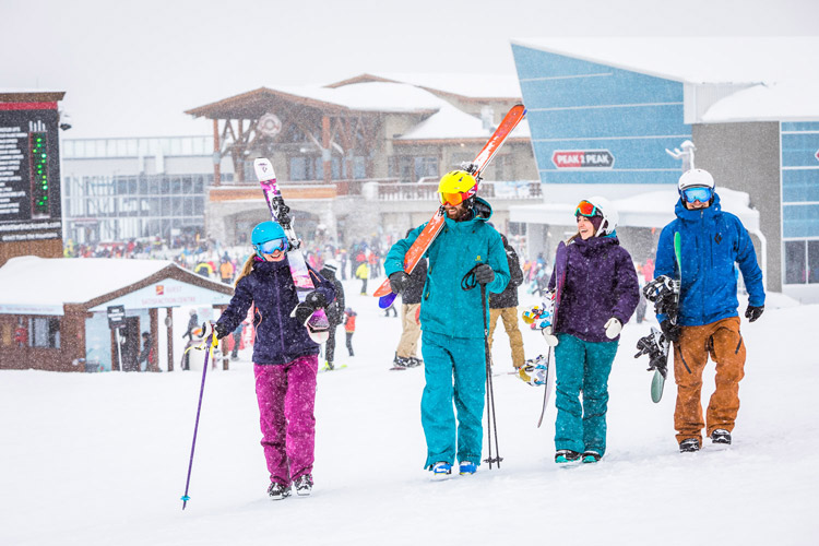
<path id="1" fill-rule="evenodd" d="M 335 296 L 333 284 L 309 268 L 316 289 L 299 304 L 287 263 L 287 237 L 275 222 L 253 228 L 256 254 L 245 263 L 227 309 L 213 327 L 222 339 L 236 330 L 253 304 L 253 372 L 262 428 L 262 447 L 270 471 L 268 495 L 310 495 L 316 444 L 316 373 L 319 345 L 305 322 Z M 290 312 L 295 309 L 295 317 Z"/>

